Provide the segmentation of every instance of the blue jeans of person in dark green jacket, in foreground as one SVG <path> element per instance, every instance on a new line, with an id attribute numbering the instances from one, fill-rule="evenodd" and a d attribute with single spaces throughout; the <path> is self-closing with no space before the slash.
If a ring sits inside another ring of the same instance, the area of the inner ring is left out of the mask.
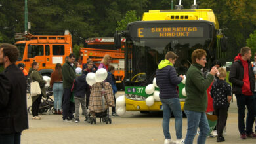
<path id="1" fill-rule="evenodd" d="M 185 144 L 193 143 L 198 127 L 200 129 L 198 144 L 205 143 L 206 137 L 210 130 L 205 112 L 187 110 L 184 110 L 184 112 L 186 113 L 186 117 L 188 120 L 188 131 L 186 133 Z"/>

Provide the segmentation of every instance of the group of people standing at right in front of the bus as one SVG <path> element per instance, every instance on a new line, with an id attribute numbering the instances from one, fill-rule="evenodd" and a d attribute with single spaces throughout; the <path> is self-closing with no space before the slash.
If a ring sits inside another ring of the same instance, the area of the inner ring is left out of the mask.
<path id="1" fill-rule="evenodd" d="M 251 64 L 251 49 L 243 47 L 232 63 L 228 80 L 232 88 L 226 82 L 226 69 L 221 67 L 218 60 L 213 62 L 208 73 L 203 73 L 207 53 L 197 49 L 192 52 L 192 65 L 186 73 L 186 100 L 184 113 L 187 117 L 186 138 L 182 139 L 182 111 L 177 92 L 177 85 L 184 79 L 183 75 L 177 76 L 173 65 L 178 56 L 173 52 L 167 52 L 165 60 L 162 60 L 156 70 L 156 83 L 160 88 L 160 99 L 163 105 L 163 134 L 164 143 L 192 144 L 198 133 L 197 143 L 205 143 L 207 136 L 211 136 L 211 130 L 207 115 L 215 115 L 217 124 L 217 142 L 225 141 L 223 131 L 226 128 L 228 108 L 232 100 L 232 94 L 236 96 L 238 105 L 238 130 L 240 139 L 247 137 L 256 138 L 253 132 L 253 123 L 256 116 L 256 66 Z M 256 54 L 255 54 L 256 60 Z M 255 63 L 254 63 L 255 64 Z M 232 92 L 233 90 L 233 92 Z M 247 107 L 246 126 L 245 106 Z M 177 141 L 171 139 L 169 133 L 169 118 L 171 112 L 175 117 L 175 130 Z M 198 131 L 199 128 L 199 132 Z M 255 127 L 256 132 L 256 127 Z"/>

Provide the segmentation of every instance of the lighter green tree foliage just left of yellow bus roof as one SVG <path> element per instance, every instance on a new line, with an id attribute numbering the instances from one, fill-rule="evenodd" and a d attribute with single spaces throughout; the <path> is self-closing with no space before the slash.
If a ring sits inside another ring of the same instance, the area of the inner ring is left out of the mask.
<path id="1" fill-rule="evenodd" d="M 118 27 L 116 28 L 117 31 L 123 31 L 126 29 L 127 24 L 129 22 L 135 22 L 140 20 L 140 17 L 136 16 L 136 12 L 134 10 L 128 11 L 125 14 L 125 18 L 123 18 L 122 20 L 120 20 L 119 22 L 117 22 Z"/>

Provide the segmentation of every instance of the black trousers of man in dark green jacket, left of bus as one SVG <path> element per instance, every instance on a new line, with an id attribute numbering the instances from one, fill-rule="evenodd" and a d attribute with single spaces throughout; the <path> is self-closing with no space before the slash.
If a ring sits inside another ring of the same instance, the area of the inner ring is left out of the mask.
<path id="1" fill-rule="evenodd" d="M 63 94 L 63 103 L 62 103 L 62 118 L 68 119 L 68 118 L 74 118 L 73 111 L 74 111 L 74 103 L 70 101 L 72 92 L 71 88 L 64 88 L 64 94 Z"/>

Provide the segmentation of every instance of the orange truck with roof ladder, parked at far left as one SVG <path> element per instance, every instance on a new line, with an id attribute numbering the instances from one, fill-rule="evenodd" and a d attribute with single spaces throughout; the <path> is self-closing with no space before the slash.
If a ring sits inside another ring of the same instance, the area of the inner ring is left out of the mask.
<path id="1" fill-rule="evenodd" d="M 17 33 L 15 45 L 20 50 L 18 63 L 24 63 L 28 71 L 33 62 L 39 63 L 39 73 L 51 77 L 56 63 L 64 64 L 72 53 L 72 36 L 66 30 L 64 35 L 32 35 Z"/>

